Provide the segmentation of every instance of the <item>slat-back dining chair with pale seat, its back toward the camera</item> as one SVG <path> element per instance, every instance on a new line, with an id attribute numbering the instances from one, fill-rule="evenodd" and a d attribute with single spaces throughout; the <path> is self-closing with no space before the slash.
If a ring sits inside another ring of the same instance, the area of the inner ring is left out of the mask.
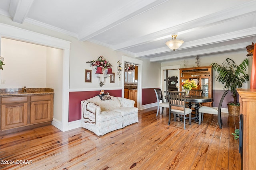
<path id="1" fill-rule="evenodd" d="M 191 112 L 190 108 L 186 108 L 186 92 L 177 92 L 177 91 L 170 91 L 167 90 L 168 98 L 169 98 L 169 122 L 170 125 L 171 121 L 171 113 L 174 114 L 174 121 L 176 121 L 176 115 L 183 115 L 184 116 L 184 129 L 186 129 L 186 115 L 189 118 L 189 124 L 191 125 Z"/>

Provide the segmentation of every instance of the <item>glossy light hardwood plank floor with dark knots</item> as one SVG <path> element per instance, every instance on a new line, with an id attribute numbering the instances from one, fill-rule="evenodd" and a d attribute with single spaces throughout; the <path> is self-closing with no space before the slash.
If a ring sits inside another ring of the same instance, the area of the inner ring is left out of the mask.
<path id="1" fill-rule="evenodd" d="M 161 112 L 160 112 L 161 113 Z M 156 117 L 156 107 L 139 111 L 139 122 L 98 137 L 77 128 L 62 132 L 52 125 L 0 138 L 2 170 L 240 170 L 238 116 L 204 114 L 201 125 L 173 121 L 168 109 Z M 6 162 L 5 162 L 6 163 Z M 10 163 L 10 162 L 9 162 Z"/>

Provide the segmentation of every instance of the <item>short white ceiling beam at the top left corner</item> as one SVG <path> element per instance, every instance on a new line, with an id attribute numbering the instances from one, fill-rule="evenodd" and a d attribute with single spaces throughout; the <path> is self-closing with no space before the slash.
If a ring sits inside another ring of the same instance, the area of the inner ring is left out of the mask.
<path id="1" fill-rule="evenodd" d="M 34 0 L 11 0 L 9 14 L 12 17 L 12 21 L 22 24 L 33 2 Z"/>

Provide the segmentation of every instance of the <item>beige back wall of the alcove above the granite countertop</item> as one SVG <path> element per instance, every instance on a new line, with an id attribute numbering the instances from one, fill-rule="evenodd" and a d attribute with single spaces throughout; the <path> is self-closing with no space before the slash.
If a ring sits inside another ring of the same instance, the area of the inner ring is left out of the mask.
<path id="1" fill-rule="evenodd" d="M 46 87 L 46 48 L 2 38 L 1 56 L 5 65 L 0 78 L 6 84 L 0 84 L 0 88 Z"/>

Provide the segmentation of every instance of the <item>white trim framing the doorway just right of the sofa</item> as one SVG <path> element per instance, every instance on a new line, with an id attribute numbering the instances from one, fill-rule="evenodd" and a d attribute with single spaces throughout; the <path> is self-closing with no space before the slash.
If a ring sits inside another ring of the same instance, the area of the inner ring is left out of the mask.
<path id="1" fill-rule="evenodd" d="M 124 62 L 127 61 L 129 63 L 134 63 L 139 65 L 138 69 L 138 88 L 137 88 L 137 107 L 140 109 L 141 105 L 141 98 L 142 98 L 142 68 L 143 68 L 143 61 L 139 59 L 135 59 L 133 57 L 128 57 L 122 55 L 122 68 L 124 69 Z M 124 70 L 121 72 L 121 83 L 122 83 L 122 97 L 124 97 Z M 116 74 L 117 75 L 117 74 Z"/>

